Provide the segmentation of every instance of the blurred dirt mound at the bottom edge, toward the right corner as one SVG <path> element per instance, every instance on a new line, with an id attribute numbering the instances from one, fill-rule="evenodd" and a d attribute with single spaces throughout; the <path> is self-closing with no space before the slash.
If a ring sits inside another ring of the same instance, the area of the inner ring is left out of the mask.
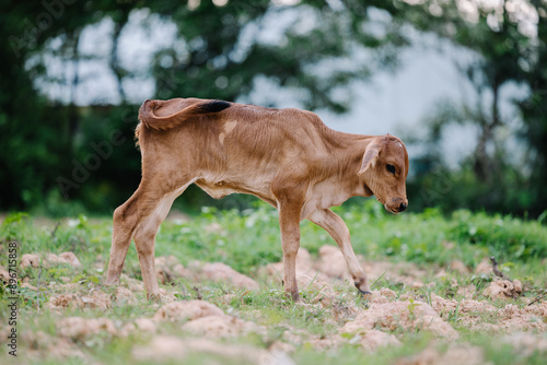
<path id="1" fill-rule="evenodd" d="M 399 358 L 395 362 L 396 365 L 489 365 L 486 362 L 482 349 L 473 346 L 468 343 L 462 343 L 450 346 L 446 352 L 441 353 L 439 350 L 429 346 L 417 355 Z"/>

